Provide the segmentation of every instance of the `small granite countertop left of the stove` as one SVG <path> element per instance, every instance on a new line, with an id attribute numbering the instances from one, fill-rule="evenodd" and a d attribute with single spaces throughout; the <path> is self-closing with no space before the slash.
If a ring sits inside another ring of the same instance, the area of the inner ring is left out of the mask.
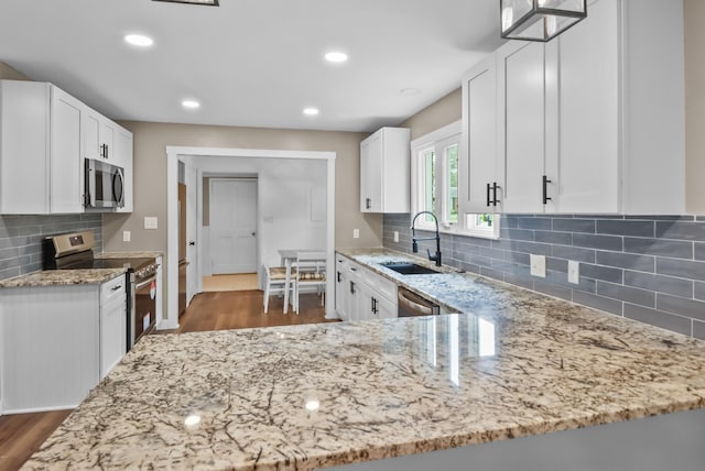
<path id="1" fill-rule="evenodd" d="M 0 288 L 99 285 L 123 275 L 127 269 L 46 270 L 0 281 Z"/>

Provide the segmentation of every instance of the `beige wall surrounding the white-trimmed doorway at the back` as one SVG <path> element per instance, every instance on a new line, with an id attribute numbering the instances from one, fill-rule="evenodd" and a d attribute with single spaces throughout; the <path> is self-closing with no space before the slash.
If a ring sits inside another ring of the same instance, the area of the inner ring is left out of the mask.
<path id="1" fill-rule="evenodd" d="M 134 211 L 131 215 L 104 215 L 106 251 L 166 252 L 167 145 L 336 152 L 335 245 L 382 244 L 381 216 L 362 215 L 359 210 L 359 143 L 367 135 L 365 133 L 138 121 L 121 124 L 134 135 Z M 159 218 L 159 229 L 144 229 L 147 216 Z M 360 230 L 359 239 L 352 239 L 352 229 Z M 132 232 L 131 242 L 122 242 L 123 230 Z"/>

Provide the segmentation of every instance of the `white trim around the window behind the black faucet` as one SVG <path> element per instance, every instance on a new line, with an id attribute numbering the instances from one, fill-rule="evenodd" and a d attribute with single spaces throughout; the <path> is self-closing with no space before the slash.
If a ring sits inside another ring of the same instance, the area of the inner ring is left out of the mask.
<path id="1" fill-rule="evenodd" d="M 433 212 L 437 215 L 441 220 L 438 221 L 438 230 L 442 233 L 457 234 L 457 236 L 468 236 L 476 237 L 482 239 L 499 239 L 499 224 L 500 224 L 500 215 L 494 215 L 494 230 L 478 230 L 474 228 L 466 227 L 466 222 L 463 221 L 463 218 L 466 218 L 467 215 L 462 211 L 462 205 L 458 205 L 458 222 L 448 222 L 443 220 L 445 215 L 443 215 L 443 206 L 445 201 L 444 198 L 447 197 L 447 185 L 445 184 L 447 178 L 447 158 L 445 155 L 445 150 L 453 144 L 457 144 L 458 146 L 458 166 L 460 165 L 462 157 L 462 136 L 463 136 L 463 121 L 455 121 L 451 124 L 444 125 L 435 131 L 432 131 L 427 134 L 422 135 L 421 138 L 416 138 L 411 141 L 411 211 L 412 215 L 417 213 L 425 205 L 421 200 L 422 194 L 420 193 L 420 177 L 422 168 L 421 165 L 421 154 L 427 152 L 429 150 L 434 150 L 435 158 L 436 158 L 436 195 L 435 195 L 435 206 L 433 208 Z M 441 152 L 438 152 L 441 151 Z M 459 169 L 459 168 L 458 168 Z M 440 178 L 438 178 L 440 177 Z M 467 182 L 464 182 L 464 175 L 462 173 L 458 174 L 458 193 L 463 191 L 464 188 L 467 188 Z M 419 218 L 416 220 L 416 229 L 420 230 L 432 230 L 435 231 L 435 223 L 429 222 L 424 220 L 424 218 Z"/>

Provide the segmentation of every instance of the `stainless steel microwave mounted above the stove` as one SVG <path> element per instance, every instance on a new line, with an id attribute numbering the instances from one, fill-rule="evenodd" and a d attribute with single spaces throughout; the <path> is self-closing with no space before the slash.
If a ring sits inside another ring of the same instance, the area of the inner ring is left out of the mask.
<path id="1" fill-rule="evenodd" d="M 95 158 L 86 158 L 86 208 L 122 208 L 124 171 Z"/>

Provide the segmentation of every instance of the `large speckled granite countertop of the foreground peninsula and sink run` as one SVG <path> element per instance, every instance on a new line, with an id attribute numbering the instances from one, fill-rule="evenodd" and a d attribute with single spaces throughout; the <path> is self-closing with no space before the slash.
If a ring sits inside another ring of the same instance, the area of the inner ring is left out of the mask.
<path id="1" fill-rule="evenodd" d="M 699 340 L 429 276 L 476 314 L 148 336 L 25 468 L 308 470 L 705 406 Z"/>

